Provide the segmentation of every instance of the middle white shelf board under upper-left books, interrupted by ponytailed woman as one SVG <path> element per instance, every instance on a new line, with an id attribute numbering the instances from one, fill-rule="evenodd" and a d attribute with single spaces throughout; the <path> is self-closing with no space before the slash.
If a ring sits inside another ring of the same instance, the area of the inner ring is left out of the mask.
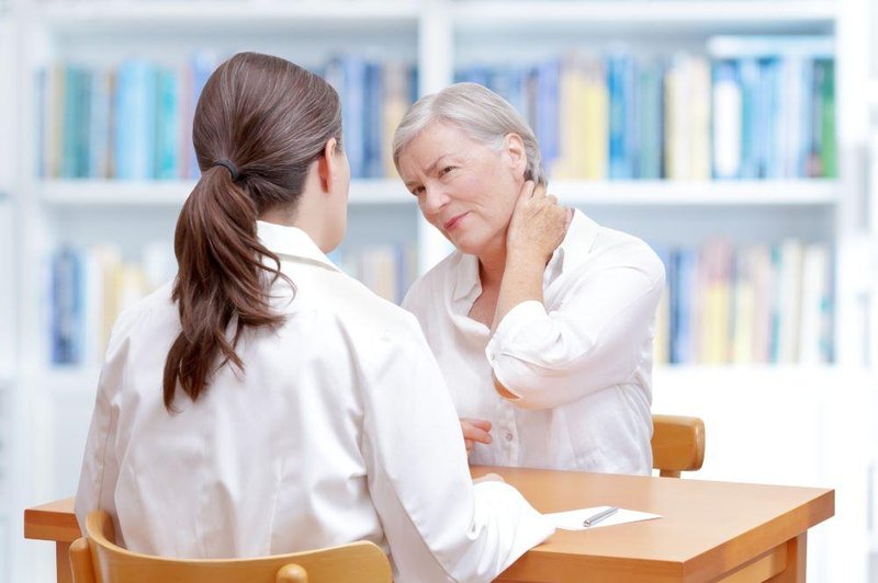
<path id="1" fill-rule="evenodd" d="M 194 181 L 47 180 L 37 183 L 40 198 L 53 206 L 167 206 L 178 208 Z M 351 182 L 351 205 L 414 204 L 398 180 Z"/>

